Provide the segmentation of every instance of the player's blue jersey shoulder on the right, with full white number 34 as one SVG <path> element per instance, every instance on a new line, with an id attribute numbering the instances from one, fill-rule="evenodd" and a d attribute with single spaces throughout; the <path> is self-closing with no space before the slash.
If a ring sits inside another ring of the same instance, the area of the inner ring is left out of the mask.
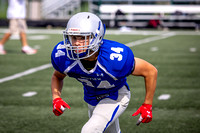
<path id="1" fill-rule="evenodd" d="M 101 45 L 99 62 L 116 78 L 128 76 L 135 64 L 133 52 L 129 47 L 110 40 L 104 40 Z"/>

